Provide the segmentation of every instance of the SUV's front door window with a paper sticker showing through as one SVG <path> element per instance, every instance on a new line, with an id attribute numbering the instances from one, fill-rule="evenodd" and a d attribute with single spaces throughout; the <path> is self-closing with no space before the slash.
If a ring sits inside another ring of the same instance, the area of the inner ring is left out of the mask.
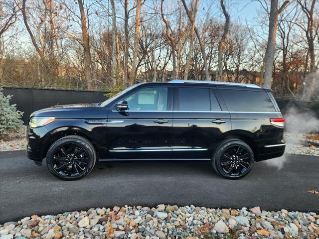
<path id="1" fill-rule="evenodd" d="M 166 111 L 167 87 L 145 88 L 127 97 L 129 111 Z"/>

